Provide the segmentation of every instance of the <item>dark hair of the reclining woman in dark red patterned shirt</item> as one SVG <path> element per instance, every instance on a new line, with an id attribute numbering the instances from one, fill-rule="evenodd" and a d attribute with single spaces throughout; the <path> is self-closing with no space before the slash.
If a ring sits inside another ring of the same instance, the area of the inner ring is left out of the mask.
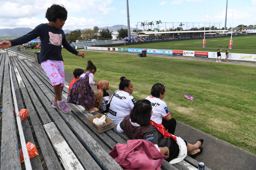
<path id="1" fill-rule="evenodd" d="M 149 125 L 151 110 L 152 107 L 151 102 L 149 100 L 142 99 L 137 101 L 130 112 L 131 121 L 136 122 L 141 126 Z"/>

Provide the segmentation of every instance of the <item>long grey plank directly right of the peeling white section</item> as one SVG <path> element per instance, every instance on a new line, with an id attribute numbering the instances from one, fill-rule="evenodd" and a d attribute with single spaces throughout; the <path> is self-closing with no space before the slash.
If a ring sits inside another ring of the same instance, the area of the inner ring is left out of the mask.
<path id="1" fill-rule="evenodd" d="M 25 66 L 25 63 L 23 61 L 20 61 L 23 66 Z M 97 165 L 97 163 L 93 160 L 93 158 L 90 156 L 90 154 L 86 151 L 86 149 L 83 147 L 81 142 L 77 139 L 77 137 L 74 135 L 74 133 L 69 129 L 69 127 L 66 125 L 64 120 L 59 116 L 59 114 L 56 112 L 54 108 L 51 107 L 50 101 L 46 98 L 46 96 L 43 94 L 40 88 L 44 87 L 45 85 L 41 84 L 41 87 L 39 88 L 38 85 L 35 82 L 40 82 L 38 80 L 37 76 L 33 74 L 33 72 L 29 68 L 23 68 L 23 71 L 27 70 L 27 77 L 30 77 L 30 75 L 35 79 L 31 79 L 31 84 L 37 92 L 37 95 L 40 96 L 38 98 L 41 99 L 43 105 L 45 106 L 45 109 L 48 111 L 48 113 L 53 118 L 56 126 L 58 127 L 59 131 L 61 131 L 62 135 L 65 137 L 65 140 L 70 145 L 71 149 L 73 150 L 74 154 L 77 156 L 81 164 L 84 166 L 85 169 L 100 169 L 100 167 Z M 45 88 L 46 89 L 46 88 Z M 47 90 L 45 91 L 47 93 Z M 48 93 L 49 94 L 49 93 Z M 52 95 L 51 95 L 52 96 Z M 88 164 L 90 162 L 90 164 Z"/>

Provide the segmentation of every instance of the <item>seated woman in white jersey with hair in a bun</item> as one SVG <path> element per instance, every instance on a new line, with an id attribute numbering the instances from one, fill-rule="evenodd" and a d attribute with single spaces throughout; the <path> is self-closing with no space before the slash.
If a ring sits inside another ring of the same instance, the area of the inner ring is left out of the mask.
<path id="1" fill-rule="evenodd" d="M 123 118 L 130 114 L 136 101 L 131 95 L 133 93 L 133 83 L 125 77 L 120 78 L 119 90 L 113 94 L 108 117 L 119 124 Z"/>

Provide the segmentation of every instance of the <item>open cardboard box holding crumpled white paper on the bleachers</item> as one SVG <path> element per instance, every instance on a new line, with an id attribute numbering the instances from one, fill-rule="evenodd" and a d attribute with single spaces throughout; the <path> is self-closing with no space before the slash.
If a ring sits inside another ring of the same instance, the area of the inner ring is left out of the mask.
<path id="1" fill-rule="evenodd" d="M 107 117 L 106 116 L 106 123 L 104 123 L 104 124 L 102 124 L 102 125 L 100 125 L 100 126 L 98 126 L 98 125 L 96 125 L 95 123 L 93 123 L 93 119 L 94 118 L 101 118 L 102 116 L 103 116 L 104 114 L 101 114 L 101 113 L 99 113 L 99 114 L 96 114 L 96 115 L 94 115 L 94 116 L 91 116 L 91 117 L 87 117 L 87 124 L 88 125 L 90 125 L 93 129 L 95 129 L 97 132 L 99 132 L 99 133 L 102 133 L 102 132 L 105 132 L 105 131 L 107 131 L 107 130 L 109 130 L 109 129 L 112 129 L 112 128 L 114 128 L 114 122 L 113 122 L 113 120 L 111 120 L 109 117 Z M 104 115 L 105 116 L 105 115 Z"/>

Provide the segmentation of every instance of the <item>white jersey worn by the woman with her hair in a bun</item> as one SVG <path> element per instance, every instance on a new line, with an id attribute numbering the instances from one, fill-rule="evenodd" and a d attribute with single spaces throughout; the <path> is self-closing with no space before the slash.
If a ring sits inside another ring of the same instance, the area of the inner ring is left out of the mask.
<path id="1" fill-rule="evenodd" d="M 125 116 L 129 115 L 136 101 L 129 93 L 119 90 L 112 97 L 108 117 L 114 121 L 114 124 L 119 124 Z"/>

